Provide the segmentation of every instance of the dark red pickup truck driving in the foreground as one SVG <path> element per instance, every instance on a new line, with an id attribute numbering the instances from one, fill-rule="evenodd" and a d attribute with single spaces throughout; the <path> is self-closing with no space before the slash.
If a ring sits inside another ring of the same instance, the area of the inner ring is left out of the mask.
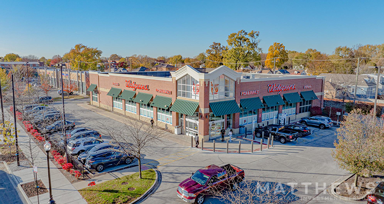
<path id="1" fill-rule="evenodd" d="M 179 184 L 177 194 L 187 203 L 202 204 L 205 196 L 212 193 L 212 188 L 221 191 L 237 190 L 244 179 L 244 170 L 231 164 L 216 166 L 214 164 L 197 170 L 193 175 Z"/>

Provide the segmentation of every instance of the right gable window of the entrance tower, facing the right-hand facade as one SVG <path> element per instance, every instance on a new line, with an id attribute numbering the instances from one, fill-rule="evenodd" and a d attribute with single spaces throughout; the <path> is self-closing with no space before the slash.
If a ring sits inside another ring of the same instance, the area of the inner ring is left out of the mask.
<path id="1" fill-rule="evenodd" d="M 209 84 L 209 100 L 233 98 L 235 95 L 235 81 L 221 75 Z"/>

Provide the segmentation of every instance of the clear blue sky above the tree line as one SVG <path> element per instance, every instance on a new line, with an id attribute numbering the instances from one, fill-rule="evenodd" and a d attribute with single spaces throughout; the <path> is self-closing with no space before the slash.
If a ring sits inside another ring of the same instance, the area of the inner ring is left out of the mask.
<path id="1" fill-rule="evenodd" d="M 193 57 L 228 34 L 260 31 L 263 52 L 384 43 L 384 1 L 0 0 L 0 56 L 51 58 L 75 44 L 113 53 Z"/>

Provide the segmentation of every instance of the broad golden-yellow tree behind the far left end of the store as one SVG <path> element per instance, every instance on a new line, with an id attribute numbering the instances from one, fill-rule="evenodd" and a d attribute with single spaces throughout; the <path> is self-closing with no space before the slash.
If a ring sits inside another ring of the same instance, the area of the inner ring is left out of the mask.
<path id="1" fill-rule="evenodd" d="M 69 61 L 71 67 L 75 70 L 97 70 L 97 60 L 100 60 L 102 53 L 97 48 L 77 44 L 68 53 L 64 54 L 63 59 Z"/>

